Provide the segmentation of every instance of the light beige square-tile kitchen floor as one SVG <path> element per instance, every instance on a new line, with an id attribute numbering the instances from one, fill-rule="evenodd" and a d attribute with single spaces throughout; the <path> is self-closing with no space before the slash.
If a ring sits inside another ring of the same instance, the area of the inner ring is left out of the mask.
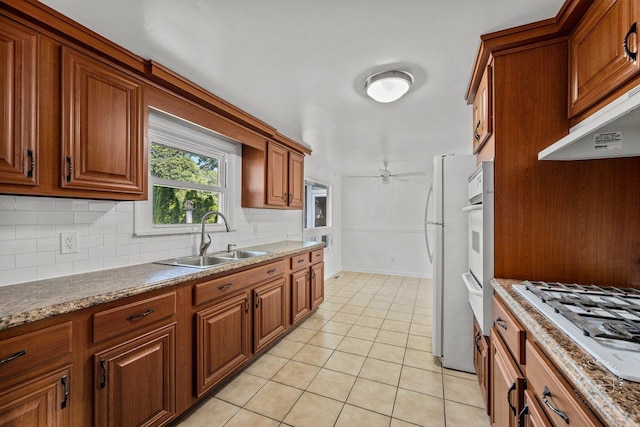
<path id="1" fill-rule="evenodd" d="M 475 375 L 431 354 L 431 280 L 342 272 L 325 302 L 180 427 L 489 426 Z"/>

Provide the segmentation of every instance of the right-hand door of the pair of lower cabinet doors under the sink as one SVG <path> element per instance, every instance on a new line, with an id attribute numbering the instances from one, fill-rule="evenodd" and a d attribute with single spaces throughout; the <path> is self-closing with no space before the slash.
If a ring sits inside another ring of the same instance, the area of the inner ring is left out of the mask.
<path id="1" fill-rule="evenodd" d="M 253 290 L 253 349 L 258 352 L 278 338 L 287 325 L 284 278 Z"/>

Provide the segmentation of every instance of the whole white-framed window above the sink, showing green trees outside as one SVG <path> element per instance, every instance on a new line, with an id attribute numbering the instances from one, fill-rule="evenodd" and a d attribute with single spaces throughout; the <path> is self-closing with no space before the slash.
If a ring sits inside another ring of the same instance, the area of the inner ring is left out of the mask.
<path id="1" fill-rule="evenodd" d="M 149 114 L 149 200 L 136 202 L 136 235 L 200 230 L 211 210 L 231 217 L 237 144 L 174 116 Z M 217 216 L 210 231 L 222 230 Z"/>

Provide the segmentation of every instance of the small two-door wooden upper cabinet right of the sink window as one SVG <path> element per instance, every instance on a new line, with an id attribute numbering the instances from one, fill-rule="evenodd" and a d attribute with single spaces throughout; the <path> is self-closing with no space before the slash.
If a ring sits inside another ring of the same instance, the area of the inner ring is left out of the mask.
<path id="1" fill-rule="evenodd" d="M 274 141 L 265 148 L 242 147 L 242 206 L 302 209 L 304 155 Z"/>

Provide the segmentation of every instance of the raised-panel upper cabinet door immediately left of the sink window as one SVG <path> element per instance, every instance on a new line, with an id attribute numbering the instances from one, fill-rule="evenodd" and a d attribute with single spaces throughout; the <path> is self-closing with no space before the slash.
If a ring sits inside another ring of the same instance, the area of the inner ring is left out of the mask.
<path id="1" fill-rule="evenodd" d="M 144 194 L 143 84 L 62 49 L 62 187 Z"/>

